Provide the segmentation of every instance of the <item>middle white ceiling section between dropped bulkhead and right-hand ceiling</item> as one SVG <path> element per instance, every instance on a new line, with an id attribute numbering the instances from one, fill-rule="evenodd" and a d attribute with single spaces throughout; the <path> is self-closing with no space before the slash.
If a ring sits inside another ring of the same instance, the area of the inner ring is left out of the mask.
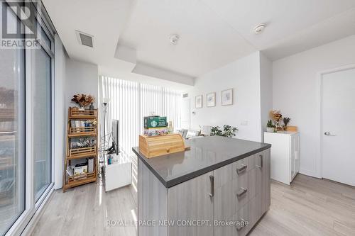
<path id="1" fill-rule="evenodd" d="M 169 36 L 180 35 L 178 45 Z M 200 0 L 137 1 L 121 35 L 137 60 L 197 77 L 255 48 Z"/>

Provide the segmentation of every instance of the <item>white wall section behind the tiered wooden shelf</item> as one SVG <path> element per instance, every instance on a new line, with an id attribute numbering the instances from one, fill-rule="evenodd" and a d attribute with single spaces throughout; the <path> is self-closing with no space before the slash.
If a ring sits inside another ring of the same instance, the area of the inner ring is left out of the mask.
<path id="1" fill-rule="evenodd" d="M 65 139 L 67 128 L 67 108 L 75 106 L 70 102 L 74 94 L 98 95 L 97 65 L 71 60 L 55 35 L 55 157 L 54 188 L 62 188 L 62 174 L 65 157 Z M 97 101 L 94 106 L 97 108 Z"/>

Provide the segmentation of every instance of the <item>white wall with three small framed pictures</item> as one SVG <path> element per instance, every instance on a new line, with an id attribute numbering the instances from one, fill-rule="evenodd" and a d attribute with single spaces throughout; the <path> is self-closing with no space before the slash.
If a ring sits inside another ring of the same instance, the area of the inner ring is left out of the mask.
<path id="1" fill-rule="evenodd" d="M 231 125 L 239 128 L 236 137 L 261 141 L 260 53 L 231 62 L 204 74 L 187 93 L 191 99 L 191 128 L 200 125 Z M 221 106 L 221 91 L 234 89 L 231 106 Z M 216 106 L 206 107 L 206 94 L 216 92 Z M 203 108 L 195 108 L 195 96 L 203 95 Z M 242 125 L 242 123 L 247 123 Z"/>

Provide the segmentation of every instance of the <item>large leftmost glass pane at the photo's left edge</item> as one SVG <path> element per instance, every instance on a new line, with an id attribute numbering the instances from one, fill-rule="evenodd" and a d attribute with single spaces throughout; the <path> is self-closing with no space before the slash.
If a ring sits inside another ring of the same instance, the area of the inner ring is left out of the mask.
<path id="1" fill-rule="evenodd" d="M 21 22 L 13 11 L 7 16 L 16 30 Z M 0 49 L 0 235 L 25 210 L 24 88 L 25 50 Z"/>

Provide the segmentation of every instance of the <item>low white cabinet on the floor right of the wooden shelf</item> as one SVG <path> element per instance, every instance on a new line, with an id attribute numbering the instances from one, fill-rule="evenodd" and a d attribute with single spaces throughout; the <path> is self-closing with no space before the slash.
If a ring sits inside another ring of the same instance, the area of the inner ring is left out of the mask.
<path id="1" fill-rule="evenodd" d="M 104 183 L 105 191 L 119 189 L 131 184 L 132 162 L 125 154 L 111 154 L 112 164 L 105 163 Z"/>

